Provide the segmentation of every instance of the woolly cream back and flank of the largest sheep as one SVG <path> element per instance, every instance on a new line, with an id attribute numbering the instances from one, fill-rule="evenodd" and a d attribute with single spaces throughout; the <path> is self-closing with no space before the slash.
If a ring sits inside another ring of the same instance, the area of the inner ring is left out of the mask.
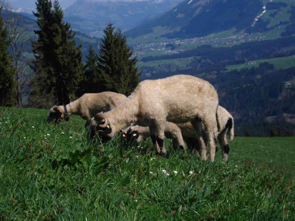
<path id="1" fill-rule="evenodd" d="M 183 119 L 196 116 L 208 103 L 218 103 L 214 87 L 209 82 L 190 75 L 145 80 L 135 91 L 140 93 L 142 112 L 157 116 L 160 111 L 165 111 L 162 114 L 167 116 L 168 121 L 174 121 L 176 116 L 183 116 Z"/>

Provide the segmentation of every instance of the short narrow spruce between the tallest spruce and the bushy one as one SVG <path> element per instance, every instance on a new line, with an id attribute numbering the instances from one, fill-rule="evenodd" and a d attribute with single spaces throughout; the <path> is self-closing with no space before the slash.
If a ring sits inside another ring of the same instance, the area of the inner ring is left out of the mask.
<path id="1" fill-rule="evenodd" d="M 98 69 L 98 56 L 93 46 L 90 44 L 88 55 L 86 56 L 86 64 L 84 65 L 84 74 L 80 82 L 80 94 L 101 92 L 101 72 Z"/>

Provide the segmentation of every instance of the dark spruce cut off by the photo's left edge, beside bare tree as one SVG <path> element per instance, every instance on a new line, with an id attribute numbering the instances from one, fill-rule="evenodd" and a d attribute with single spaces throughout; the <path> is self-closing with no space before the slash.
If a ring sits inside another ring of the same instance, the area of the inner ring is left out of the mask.
<path id="1" fill-rule="evenodd" d="M 2 8 L 0 8 L 2 11 Z M 0 106 L 10 106 L 14 103 L 14 68 L 12 57 L 8 52 L 8 32 L 0 14 Z"/>

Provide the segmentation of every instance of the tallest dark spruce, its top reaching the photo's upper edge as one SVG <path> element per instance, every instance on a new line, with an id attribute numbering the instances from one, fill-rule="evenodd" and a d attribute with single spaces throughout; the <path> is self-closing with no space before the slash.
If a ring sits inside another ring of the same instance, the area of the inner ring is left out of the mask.
<path id="1" fill-rule="evenodd" d="M 33 94 L 47 94 L 58 99 L 58 104 L 75 98 L 82 74 L 81 45 L 76 48 L 69 23 L 63 22 L 63 11 L 57 0 L 37 0 L 38 40 L 33 42 L 36 73 Z"/>

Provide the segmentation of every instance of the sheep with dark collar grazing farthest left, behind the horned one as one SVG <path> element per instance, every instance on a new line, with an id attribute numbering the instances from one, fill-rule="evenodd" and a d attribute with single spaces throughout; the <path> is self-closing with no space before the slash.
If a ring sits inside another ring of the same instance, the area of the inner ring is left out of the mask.
<path id="1" fill-rule="evenodd" d="M 101 111 L 109 111 L 117 107 L 126 96 L 110 91 L 101 93 L 86 93 L 77 100 L 61 106 L 53 106 L 47 116 L 47 122 L 55 120 L 55 123 L 67 119 L 69 115 L 80 115 L 86 120 L 85 127 L 89 126 L 91 116 Z"/>

